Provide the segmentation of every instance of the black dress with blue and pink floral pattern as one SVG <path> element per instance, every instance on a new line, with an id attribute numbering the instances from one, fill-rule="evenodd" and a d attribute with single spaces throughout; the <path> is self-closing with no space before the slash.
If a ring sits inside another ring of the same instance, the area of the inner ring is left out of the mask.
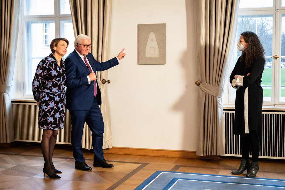
<path id="1" fill-rule="evenodd" d="M 33 80 L 34 99 L 39 102 L 38 127 L 58 130 L 64 127 L 66 76 L 51 53 L 37 66 Z"/>

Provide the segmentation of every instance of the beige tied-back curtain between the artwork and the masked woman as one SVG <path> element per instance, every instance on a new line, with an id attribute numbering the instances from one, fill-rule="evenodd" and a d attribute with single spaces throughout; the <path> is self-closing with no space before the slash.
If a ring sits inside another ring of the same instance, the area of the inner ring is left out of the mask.
<path id="1" fill-rule="evenodd" d="M 223 155 L 225 132 L 222 95 L 236 43 L 239 0 L 196 1 L 198 44 L 197 155 Z"/>

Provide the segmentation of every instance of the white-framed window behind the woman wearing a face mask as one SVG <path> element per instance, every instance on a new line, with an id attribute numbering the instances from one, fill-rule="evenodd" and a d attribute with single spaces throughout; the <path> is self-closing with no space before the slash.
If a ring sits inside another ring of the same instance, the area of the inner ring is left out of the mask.
<path id="1" fill-rule="evenodd" d="M 285 105 L 285 0 L 240 0 L 236 42 L 243 31 L 255 32 L 265 49 L 263 105 Z M 230 71 L 240 55 L 235 47 Z M 229 87 L 229 103 L 235 92 Z"/>

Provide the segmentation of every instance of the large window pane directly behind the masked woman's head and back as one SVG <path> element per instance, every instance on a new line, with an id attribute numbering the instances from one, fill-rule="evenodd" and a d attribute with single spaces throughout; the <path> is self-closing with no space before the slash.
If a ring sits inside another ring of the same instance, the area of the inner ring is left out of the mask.
<path id="1" fill-rule="evenodd" d="M 237 41 L 244 31 L 255 32 L 265 49 L 265 68 L 262 74 L 261 86 L 263 88 L 263 101 L 272 100 L 272 42 L 273 42 L 273 16 L 239 16 Z M 236 61 L 241 55 L 236 53 Z"/>

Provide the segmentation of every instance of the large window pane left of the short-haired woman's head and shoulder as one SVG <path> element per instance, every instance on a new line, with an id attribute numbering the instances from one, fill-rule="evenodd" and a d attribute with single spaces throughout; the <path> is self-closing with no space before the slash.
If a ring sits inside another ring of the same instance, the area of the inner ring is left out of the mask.
<path id="1" fill-rule="evenodd" d="M 32 80 L 39 61 L 51 53 L 49 44 L 54 39 L 54 21 L 26 22 L 27 83 L 26 95 L 32 95 Z M 46 27 L 46 28 L 45 28 Z M 44 33 L 45 29 L 48 30 Z"/>

